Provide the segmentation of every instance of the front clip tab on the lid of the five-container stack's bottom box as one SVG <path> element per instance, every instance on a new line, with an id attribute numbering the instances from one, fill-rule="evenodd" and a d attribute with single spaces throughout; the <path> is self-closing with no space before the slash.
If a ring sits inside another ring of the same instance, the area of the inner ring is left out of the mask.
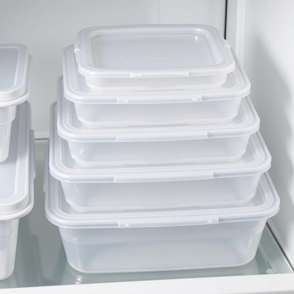
<path id="1" fill-rule="evenodd" d="M 165 218 L 137 218 L 118 220 L 118 228 L 210 225 L 218 223 L 218 216 L 171 216 Z"/>

